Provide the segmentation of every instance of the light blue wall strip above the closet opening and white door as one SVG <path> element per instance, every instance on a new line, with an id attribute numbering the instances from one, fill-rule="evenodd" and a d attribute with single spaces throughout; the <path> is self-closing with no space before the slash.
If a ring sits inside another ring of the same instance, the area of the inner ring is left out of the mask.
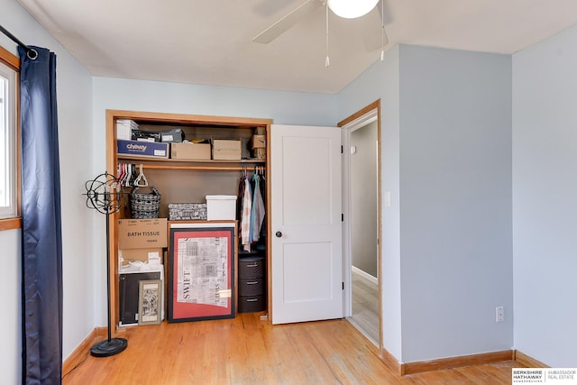
<path id="1" fill-rule="evenodd" d="M 275 124 L 335 124 L 336 96 L 238 87 L 94 78 L 95 119 L 105 109 L 272 118 Z M 112 91 L 112 93 L 108 93 Z"/>

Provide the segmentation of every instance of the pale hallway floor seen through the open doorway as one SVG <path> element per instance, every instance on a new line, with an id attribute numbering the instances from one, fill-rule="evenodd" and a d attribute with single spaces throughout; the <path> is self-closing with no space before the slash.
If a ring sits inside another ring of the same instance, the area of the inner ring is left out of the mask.
<path id="1" fill-rule="evenodd" d="M 379 346 L 379 285 L 353 270 L 353 316 L 349 321 Z"/>

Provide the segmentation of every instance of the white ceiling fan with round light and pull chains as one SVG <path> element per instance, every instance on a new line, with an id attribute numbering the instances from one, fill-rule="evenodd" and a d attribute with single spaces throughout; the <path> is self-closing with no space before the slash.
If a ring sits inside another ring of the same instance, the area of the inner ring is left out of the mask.
<path id="1" fill-rule="evenodd" d="M 349 5 L 359 5 L 359 3 L 366 3 L 366 5 L 363 5 L 364 9 L 361 9 L 359 12 L 353 10 L 353 16 L 343 14 L 347 11 L 346 8 L 348 8 Z M 382 23 L 381 25 L 375 25 L 374 28 L 365 29 L 365 47 L 367 50 L 372 51 L 380 49 L 389 43 L 387 33 L 384 31 L 384 0 L 366 0 L 363 2 L 359 2 L 359 0 L 307 0 L 303 4 L 298 5 L 298 7 L 289 12 L 289 14 L 280 18 L 279 21 L 254 36 L 252 41 L 261 44 L 270 43 L 270 41 L 275 40 L 282 33 L 288 31 L 292 26 L 300 23 L 311 14 L 314 14 L 318 8 L 325 5 L 328 5 L 328 8 L 333 11 L 334 14 L 345 18 L 360 17 L 371 12 L 373 8 L 377 8 Z M 387 19 L 388 22 L 390 22 L 389 17 Z"/>

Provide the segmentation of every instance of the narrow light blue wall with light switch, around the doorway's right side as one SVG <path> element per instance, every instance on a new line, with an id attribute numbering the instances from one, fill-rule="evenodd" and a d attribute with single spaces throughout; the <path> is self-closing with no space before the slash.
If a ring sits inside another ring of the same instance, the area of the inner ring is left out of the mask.
<path id="1" fill-rule="evenodd" d="M 401 353 L 400 222 L 399 222 L 399 47 L 390 49 L 338 94 L 339 121 L 380 99 L 382 193 L 390 192 L 390 207 L 382 207 L 382 333 L 383 346 L 398 360 Z M 382 198 L 381 198 L 382 199 Z M 384 201 L 384 200 L 383 200 Z"/>

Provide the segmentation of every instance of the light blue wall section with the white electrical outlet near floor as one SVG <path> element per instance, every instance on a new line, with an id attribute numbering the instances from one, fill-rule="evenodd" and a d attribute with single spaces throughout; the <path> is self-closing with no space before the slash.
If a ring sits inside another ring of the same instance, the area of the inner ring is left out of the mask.
<path id="1" fill-rule="evenodd" d="M 511 58 L 402 45 L 400 74 L 403 361 L 508 350 Z"/>

